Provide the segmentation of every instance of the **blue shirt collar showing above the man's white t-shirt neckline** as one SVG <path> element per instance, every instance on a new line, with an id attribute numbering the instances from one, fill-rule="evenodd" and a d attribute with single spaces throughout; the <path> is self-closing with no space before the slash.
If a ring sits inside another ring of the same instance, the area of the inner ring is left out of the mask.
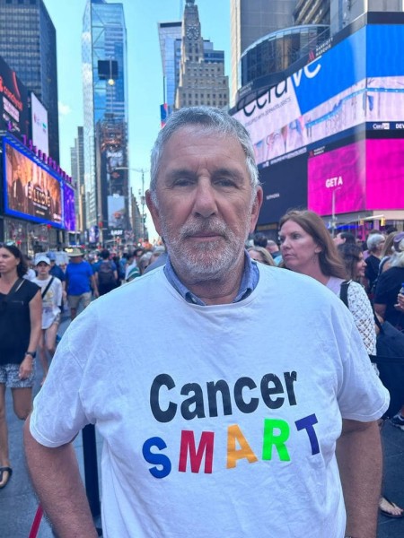
<path id="1" fill-rule="evenodd" d="M 170 256 L 167 257 L 167 261 L 165 262 L 164 273 L 167 280 L 171 283 L 171 286 L 177 290 L 187 302 L 193 303 L 194 305 L 200 305 L 201 307 L 206 307 L 206 303 L 199 299 L 197 295 L 192 293 L 192 291 L 189 291 L 189 289 L 180 281 L 177 273 L 175 273 L 174 268 L 171 265 Z M 253 262 L 248 252 L 245 251 L 242 282 L 240 283 L 239 291 L 236 297 L 233 299 L 233 302 L 239 302 L 240 300 L 248 297 L 250 293 L 255 290 L 258 282 L 259 268 L 257 267 L 257 263 Z"/>

